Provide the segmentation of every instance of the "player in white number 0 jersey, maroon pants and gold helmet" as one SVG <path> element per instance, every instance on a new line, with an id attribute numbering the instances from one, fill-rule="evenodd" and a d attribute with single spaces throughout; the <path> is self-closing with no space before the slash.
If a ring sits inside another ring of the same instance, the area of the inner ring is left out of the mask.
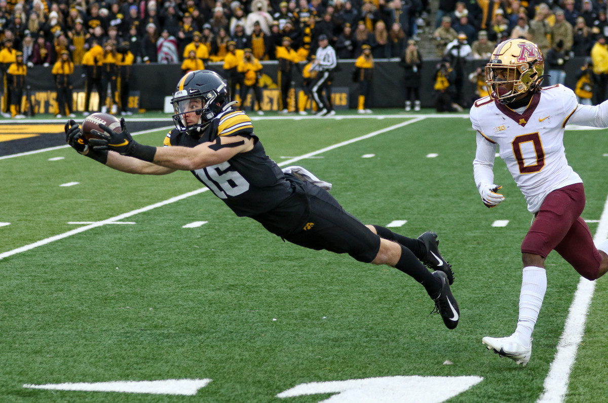
<path id="1" fill-rule="evenodd" d="M 568 165 L 564 151 L 567 123 L 608 127 L 608 102 L 579 105 L 571 89 L 557 84 L 541 88 L 544 62 L 536 44 L 504 41 L 486 65 L 488 97 L 471 108 L 477 130 L 473 161 L 475 184 L 487 207 L 505 200 L 494 184 L 497 147 L 525 196 L 533 224 L 522 243 L 523 279 L 519 322 L 509 337 L 483 337 L 501 357 L 524 366 L 532 353 L 532 332 L 547 289 L 545 258 L 556 250 L 582 277 L 595 280 L 608 270 L 608 241 L 596 249 L 581 218 L 585 192 L 581 177 Z"/>

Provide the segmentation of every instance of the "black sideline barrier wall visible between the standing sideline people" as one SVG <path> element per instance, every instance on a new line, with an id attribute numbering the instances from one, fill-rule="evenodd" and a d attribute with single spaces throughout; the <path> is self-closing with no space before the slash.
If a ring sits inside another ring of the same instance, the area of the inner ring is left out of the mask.
<path id="1" fill-rule="evenodd" d="M 565 85 L 569 88 L 575 88 L 576 74 L 580 67 L 584 64 L 586 58 L 577 57 L 568 61 L 565 64 L 566 80 Z M 434 74 L 437 69 L 439 60 L 423 61 L 421 69 L 421 87 L 420 98 L 423 108 L 434 107 Z M 278 110 L 278 95 L 277 89 L 277 62 L 263 61 L 261 86 L 264 94 L 264 108 L 267 110 Z M 300 64 L 300 69 L 305 63 Z M 484 66 L 485 61 L 473 60 L 468 61 L 465 66 L 466 76 L 469 72 L 475 71 L 478 66 Z M 207 69 L 218 72 L 224 75 L 223 63 L 210 63 L 206 66 Z M 334 101 L 336 109 L 357 108 L 357 99 L 359 95 L 358 83 L 353 83 L 351 80 L 354 69 L 354 60 L 344 60 L 339 62 L 339 71 L 335 72 L 333 82 Z M 545 72 L 548 69 L 545 68 Z M 175 86 L 182 71 L 179 64 L 136 64 L 133 66 L 133 74 L 131 75 L 130 88 L 132 96 L 130 98 L 130 109 L 147 110 L 163 110 L 165 105 L 165 97 L 173 94 Z M 295 86 L 300 86 L 300 74 L 296 72 Z M 54 103 L 55 100 L 55 85 L 50 67 L 35 66 L 27 71 L 26 84 L 30 86 L 32 96 L 36 99 L 36 113 L 48 113 L 48 104 Z M 76 66 L 73 76 L 75 101 L 83 97 L 85 81 L 83 77 L 83 67 Z M 474 98 L 475 84 L 468 81 L 465 77 L 463 99 L 467 102 L 472 102 Z M 249 94 L 251 96 L 252 94 Z M 404 70 L 399 66 L 396 60 L 376 60 L 374 68 L 373 91 L 371 94 L 371 108 L 402 108 L 405 100 L 404 89 Z M 38 108 L 41 102 L 46 102 L 47 107 Z M 75 102 L 77 111 L 81 111 L 78 105 L 83 102 Z"/>

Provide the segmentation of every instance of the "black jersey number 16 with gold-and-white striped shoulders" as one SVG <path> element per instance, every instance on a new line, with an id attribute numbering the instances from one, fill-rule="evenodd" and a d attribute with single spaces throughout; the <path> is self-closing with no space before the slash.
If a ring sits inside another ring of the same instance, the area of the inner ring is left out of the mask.
<path id="1" fill-rule="evenodd" d="M 192 171 L 238 216 L 253 216 L 268 212 L 291 196 L 292 188 L 281 168 L 266 155 L 254 126 L 242 111 L 222 112 L 216 116 L 199 139 L 173 129 L 165 138 L 165 146 L 195 147 L 212 142 L 218 136 L 246 136 L 255 145 L 221 164 Z"/>

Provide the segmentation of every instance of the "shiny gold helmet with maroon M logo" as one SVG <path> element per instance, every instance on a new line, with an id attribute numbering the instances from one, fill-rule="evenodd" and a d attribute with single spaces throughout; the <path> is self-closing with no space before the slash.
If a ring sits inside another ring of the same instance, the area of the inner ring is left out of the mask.
<path id="1" fill-rule="evenodd" d="M 509 103 L 528 91 L 539 91 L 545 62 L 536 44 L 523 39 L 510 39 L 494 49 L 486 64 L 486 86 L 490 97 L 502 103 Z M 506 79 L 497 77 L 496 69 L 507 69 Z M 513 89 L 506 91 L 499 84 L 513 83 Z"/>

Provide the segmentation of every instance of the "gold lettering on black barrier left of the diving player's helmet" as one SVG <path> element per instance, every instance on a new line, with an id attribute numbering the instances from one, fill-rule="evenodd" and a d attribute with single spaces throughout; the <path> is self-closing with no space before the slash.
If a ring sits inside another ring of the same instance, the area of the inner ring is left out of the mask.
<path id="1" fill-rule="evenodd" d="M 105 106 L 111 106 L 116 103 L 115 100 L 119 99 L 119 95 L 115 94 L 114 100 L 110 97 L 106 97 Z M 127 111 L 139 112 L 139 91 L 130 91 L 129 97 L 127 98 Z M 24 102 L 26 100 L 24 99 Z M 72 92 L 72 112 L 84 112 L 84 111 L 98 111 L 100 110 L 99 96 L 97 91 L 91 92 L 91 100 L 89 105 L 86 103 L 86 92 L 85 91 L 74 91 Z M 32 105 L 33 112 L 36 114 L 57 114 L 57 92 L 55 91 L 35 91 L 32 93 Z"/>

